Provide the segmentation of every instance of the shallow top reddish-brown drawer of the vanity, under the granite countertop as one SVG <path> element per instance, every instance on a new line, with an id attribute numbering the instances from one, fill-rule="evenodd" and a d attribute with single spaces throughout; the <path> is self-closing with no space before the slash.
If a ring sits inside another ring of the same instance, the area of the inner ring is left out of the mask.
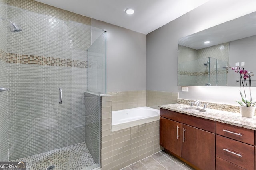
<path id="1" fill-rule="evenodd" d="M 254 145 L 254 130 L 216 122 L 216 134 Z"/>

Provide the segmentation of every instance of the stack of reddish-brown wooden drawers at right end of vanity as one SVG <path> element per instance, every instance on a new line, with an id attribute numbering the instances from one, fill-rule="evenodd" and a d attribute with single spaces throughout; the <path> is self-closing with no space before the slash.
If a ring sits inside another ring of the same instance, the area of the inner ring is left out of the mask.
<path id="1" fill-rule="evenodd" d="M 254 170 L 254 130 L 216 122 L 216 134 L 216 170 Z"/>

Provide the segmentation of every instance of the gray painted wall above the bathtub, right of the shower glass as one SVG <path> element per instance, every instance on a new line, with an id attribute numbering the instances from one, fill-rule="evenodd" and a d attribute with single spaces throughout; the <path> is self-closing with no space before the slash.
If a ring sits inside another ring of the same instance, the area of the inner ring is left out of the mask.
<path id="1" fill-rule="evenodd" d="M 107 92 L 146 90 L 146 35 L 92 19 L 107 30 Z"/>

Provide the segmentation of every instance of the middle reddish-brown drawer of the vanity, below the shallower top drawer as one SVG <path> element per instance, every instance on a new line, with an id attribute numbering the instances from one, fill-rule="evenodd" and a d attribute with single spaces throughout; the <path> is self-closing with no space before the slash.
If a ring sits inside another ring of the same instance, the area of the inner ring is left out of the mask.
<path id="1" fill-rule="evenodd" d="M 247 170 L 254 169 L 254 146 L 216 135 L 216 156 Z"/>

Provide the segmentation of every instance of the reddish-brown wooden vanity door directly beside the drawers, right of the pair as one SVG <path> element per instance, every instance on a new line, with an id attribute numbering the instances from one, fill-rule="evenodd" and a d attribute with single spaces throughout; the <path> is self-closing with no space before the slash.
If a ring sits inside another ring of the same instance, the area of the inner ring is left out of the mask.
<path id="1" fill-rule="evenodd" d="M 201 170 L 215 170 L 215 134 L 182 125 L 182 158 Z"/>

